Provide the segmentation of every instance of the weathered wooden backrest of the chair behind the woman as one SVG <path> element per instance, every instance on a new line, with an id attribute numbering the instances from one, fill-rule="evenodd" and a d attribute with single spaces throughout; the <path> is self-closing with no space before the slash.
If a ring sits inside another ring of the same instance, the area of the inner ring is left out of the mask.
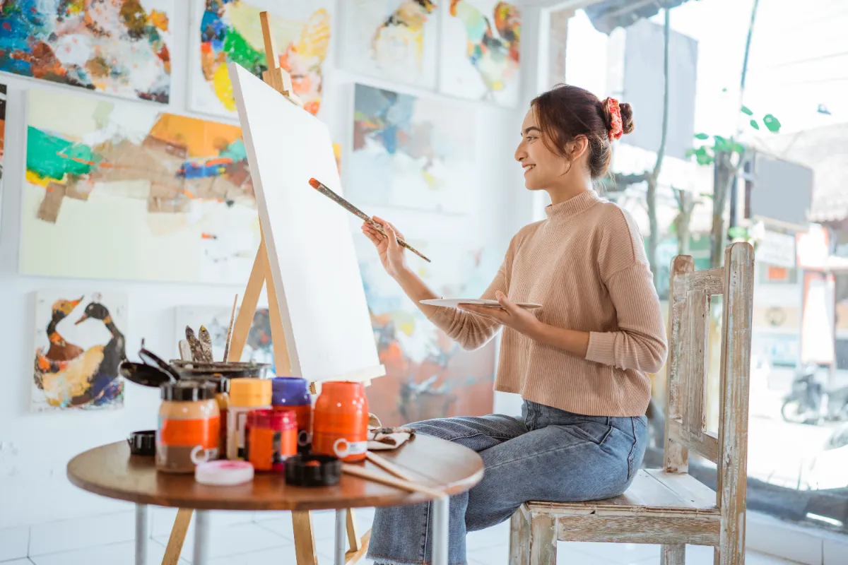
<path id="1" fill-rule="evenodd" d="M 724 295 L 718 435 L 706 431 L 710 297 Z M 666 387 L 665 470 L 686 473 L 689 451 L 717 464 L 717 507 L 745 510 L 748 461 L 748 385 L 754 249 L 734 243 L 724 267 L 695 271 L 692 258 L 672 260 Z"/>

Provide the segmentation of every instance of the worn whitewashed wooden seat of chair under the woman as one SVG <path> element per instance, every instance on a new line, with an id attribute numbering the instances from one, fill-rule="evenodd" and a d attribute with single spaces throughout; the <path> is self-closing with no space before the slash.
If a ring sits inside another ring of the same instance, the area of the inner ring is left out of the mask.
<path id="1" fill-rule="evenodd" d="M 561 541 L 718 543 L 721 511 L 716 493 L 689 474 L 639 469 L 621 496 L 600 501 L 541 502 L 522 506 L 527 518 L 547 515 Z"/>

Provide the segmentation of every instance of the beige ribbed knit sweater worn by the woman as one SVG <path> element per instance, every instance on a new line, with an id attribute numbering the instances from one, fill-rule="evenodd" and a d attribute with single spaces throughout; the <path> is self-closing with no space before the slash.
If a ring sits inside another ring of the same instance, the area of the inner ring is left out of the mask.
<path id="1" fill-rule="evenodd" d="M 577 357 L 506 328 L 495 390 L 592 416 L 641 416 L 647 373 L 666 360 L 666 330 L 644 244 L 633 219 L 594 192 L 549 206 L 548 219 L 512 238 L 483 298 L 502 291 L 537 302 L 545 324 L 589 332 Z M 499 324 L 439 308 L 431 321 L 466 349 L 492 339 Z"/>

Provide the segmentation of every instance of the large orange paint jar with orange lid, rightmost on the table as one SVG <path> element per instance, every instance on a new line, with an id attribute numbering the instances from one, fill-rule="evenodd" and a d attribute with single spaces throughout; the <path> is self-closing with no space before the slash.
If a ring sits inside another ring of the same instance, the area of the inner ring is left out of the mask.
<path id="1" fill-rule="evenodd" d="M 368 399 L 362 383 L 321 384 L 312 418 L 312 452 L 362 461 L 368 447 Z"/>

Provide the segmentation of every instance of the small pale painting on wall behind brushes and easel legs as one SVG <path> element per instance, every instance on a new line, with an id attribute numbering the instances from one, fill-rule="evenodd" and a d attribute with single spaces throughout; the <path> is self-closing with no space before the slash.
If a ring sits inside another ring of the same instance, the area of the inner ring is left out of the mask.
<path id="1" fill-rule="evenodd" d="M 175 308 L 176 341 L 185 339 L 186 326 L 195 333 L 200 326 L 209 330 L 212 338 L 212 357 L 215 361 L 224 358 L 226 331 L 230 327 L 232 307 L 226 306 L 178 306 Z M 238 315 L 238 312 L 236 312 Z M 175 343 L 176 343 L 175 341 Z M 268 372 L 274 373 L 274 350 L 271 343 L 271 317 L 268 308 L 257 308 L 254 322 L 250 325 L 248 341 L 242 352 L 242 361 L 269 363 Z"/>

